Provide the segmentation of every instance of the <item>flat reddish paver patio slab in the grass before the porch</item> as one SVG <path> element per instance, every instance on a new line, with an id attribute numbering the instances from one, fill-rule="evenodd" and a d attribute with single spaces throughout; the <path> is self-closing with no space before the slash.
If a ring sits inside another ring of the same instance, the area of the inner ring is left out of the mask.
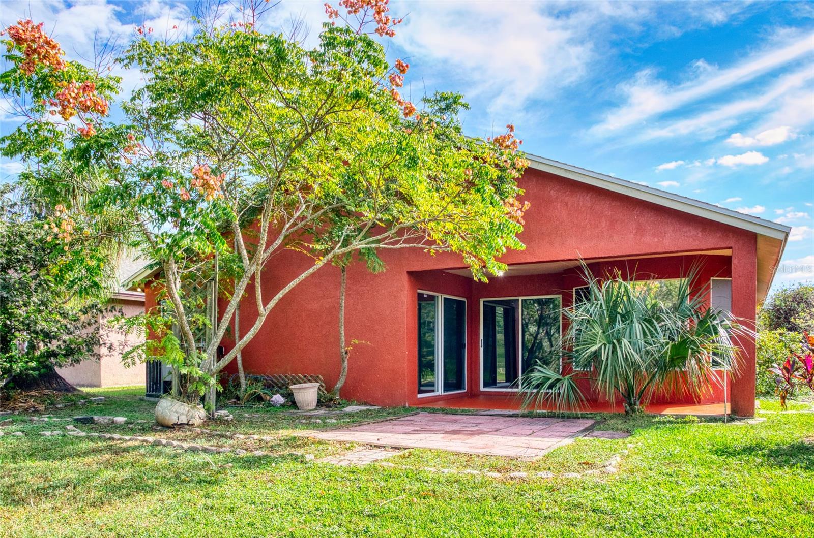
<path id="1" fill-rule="evenodd" d="M 366 445 L 538 458 L 583 435 L 591 426 L 593 420 L 589 419 L 418 413 L 308 435 Z"/>

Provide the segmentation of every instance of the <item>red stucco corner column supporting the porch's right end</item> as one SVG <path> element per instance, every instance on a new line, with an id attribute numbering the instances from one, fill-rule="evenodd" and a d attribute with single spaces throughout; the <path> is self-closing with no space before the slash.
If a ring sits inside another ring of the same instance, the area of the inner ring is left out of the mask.
<path id="1" fill-rule="evenodd" d="M 748 328 L 755 329 L 757 311 L 757 237 L 744 239 L 732 249 L 732 313 Z M 741 337 L 741 364 L 732 379 L 732 414 L 755 414 L 755 339 Z"/>

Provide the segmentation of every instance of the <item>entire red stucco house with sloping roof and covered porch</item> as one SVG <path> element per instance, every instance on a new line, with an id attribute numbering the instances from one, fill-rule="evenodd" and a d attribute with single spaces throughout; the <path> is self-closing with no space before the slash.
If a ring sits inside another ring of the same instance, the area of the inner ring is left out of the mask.
<path id="1" fill-rule="evenodd" d="M 343 397 L 382 406 L 505 404 L 528 366 L 527 334 L 562 331 L 559 315 L 529 313 L 579 299 L 580 258 L 595 275 L 619 268 L 657 280 L 678 278 L 702 262 L 708 301 L 754 322 L 790 228 L 547 158 L 527 158 L 531 166 L 520 180 L 531 202 L 520 235 L 527 249 L 502 258 L 509 265 L 502 276 L 475 282 L 459 257 L 414 249 L 383 252 L 387 271 L 380 274 L 370 274 L 361 263 L 348 270 L 346 334 L 368 344 L 352 350 Z M 263 275 L 265 289 L 280 287 L 311 263 L 295 252 L 280 256 L 285 258 Z M 338 305 L 339 269 L 322 267 L 275 306 L 243 349 L 244 367 L 256 374 L 318 374 L 331 387 L 339 375 Z M 547 320 L 545 327 L 540 319 Z M 745 364 L 727 385 L 726 399 L 733 414 L 751 415 L 754 341 L 743 341 L 742 349 Z M 661 395 L 659 401 L 695 403 L 681 395 Z M 700 403 L 722 401 L 724 391 L 714 390 Z"/>

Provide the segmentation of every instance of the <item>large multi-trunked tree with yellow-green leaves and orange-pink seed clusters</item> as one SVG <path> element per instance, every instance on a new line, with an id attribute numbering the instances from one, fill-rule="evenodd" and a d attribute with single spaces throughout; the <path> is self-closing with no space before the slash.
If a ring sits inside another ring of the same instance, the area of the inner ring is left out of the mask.
<path id="1" fill-rule="evenodd" d="M 466 137 L 460 95 L 401 97 L 408 64 L 388 63 L 369 35 L 400 22 L 387 2 L 329 7 L 346 24 L 326 23 L 313 49 L 257 31 L 256 5 L 184 40 L 139 28 L 120 62 L 145 82 L 120 102 L 120 121 L 107 115 L 114 77 L 73 62 L 23 68 L 32 39 L 11 31 L 15 67 L 0 79 L 29 103 L 2 153 L 31 165 L 28 191 L 65 206 L 70 232 L 56 239 L 116 236 L 155 260 L 162 308 L 147 317 L 155 338 L 143 351 L 180 360 L 192 397 L 210 393 L 282 297 L 325 265 L 352 257 L 381 269 L 383 249 L 449 251 L 483 279 L 523 248 L 527 162 L 514 128 Z M 265 289 L 260 275 L 284 249 L 313 263 Z M 195 293 L 204 280 L 217 281 L 214 317 Z M 218 357 L 239 304 L 253 322 Z"/>

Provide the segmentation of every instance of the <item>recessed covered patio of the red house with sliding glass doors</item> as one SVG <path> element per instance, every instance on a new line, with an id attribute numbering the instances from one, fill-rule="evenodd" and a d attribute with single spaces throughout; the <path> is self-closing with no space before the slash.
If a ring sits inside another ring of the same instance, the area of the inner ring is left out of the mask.
<path id="1" fill-rule="evenodd" d="M 523 375 L 539 360 L 558 353 L 567 331 L 562 312 L 584 300 L 586 270 L 595 278 L 619 273 L 646 282 L 666 299 L 675 293 L 678 279 L 694 271 L 695 293 L 705 304 L 754 319 L 754 307 L 751 313 L 741 311 L 733 302 L 732 249 L 517 263 L 488 282 L 473 280 L 468 268 L 411 272 L 417 315 L 408 334 L 418 334 L 418 386 L 409 405 L 519 410 Z M 746 354 L 751 355 L 750 350 Z M 572 371 L 566 359 L 560 360 L 559 369 Z M 647 409 L 663 414 L 729 413 L 730 380 L 724 380 L 724 371 L 716 375 L 720 386 L 711 385 L 700 398 L 656 393 Z M 582 411 L 623 411 L 620 402 L 615 405 L 593 393 L 589 380 L 578 383 L 588 398 Z"/>

